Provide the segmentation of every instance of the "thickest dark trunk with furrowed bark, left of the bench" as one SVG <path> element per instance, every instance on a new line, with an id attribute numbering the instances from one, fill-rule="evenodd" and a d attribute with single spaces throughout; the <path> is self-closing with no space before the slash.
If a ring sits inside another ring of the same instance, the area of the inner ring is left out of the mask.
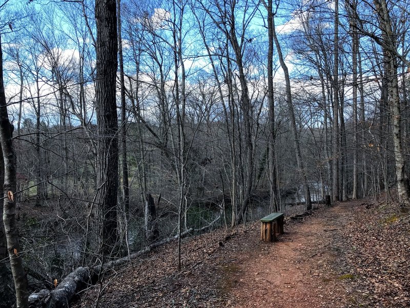
<path id="1" fill-rule="evenodd" d="M 117 245 L 117 15 L 115 0 L 95 1 L 96 85 L 95 105 L 98 129 L 96 223 L 99 248 L 110 255 Z"/>

